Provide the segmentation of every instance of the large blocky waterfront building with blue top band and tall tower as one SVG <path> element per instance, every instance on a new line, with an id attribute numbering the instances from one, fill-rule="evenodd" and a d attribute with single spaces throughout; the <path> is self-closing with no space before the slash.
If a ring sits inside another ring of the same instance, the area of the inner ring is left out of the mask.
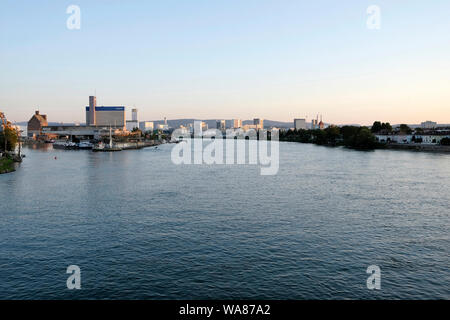
<path id="1" fill-rule="evenodd" d="M 90 96 L 89 106 L 86 107 L 86 125 L 125 128 L 125 106 L 97 107 L 96 97 Z"/>

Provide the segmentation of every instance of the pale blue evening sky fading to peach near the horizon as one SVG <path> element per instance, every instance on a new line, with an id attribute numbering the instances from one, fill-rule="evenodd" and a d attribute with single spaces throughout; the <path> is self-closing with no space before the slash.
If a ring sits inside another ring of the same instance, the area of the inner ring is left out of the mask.
<path id="1" fill-rule="evenodd" d="M 140 120 L 450 123 L 449 13 L 448 0 L 0 0 L 0 111 L 83 122 L 95 94 Z"/>

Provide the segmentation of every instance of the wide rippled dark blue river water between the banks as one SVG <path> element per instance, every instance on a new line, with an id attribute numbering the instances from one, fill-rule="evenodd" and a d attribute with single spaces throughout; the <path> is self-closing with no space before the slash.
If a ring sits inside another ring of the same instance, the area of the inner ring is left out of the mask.
<path id="1" fill-rule="evenodd" d="M 261 176 L 171 148 L 25 149 L 0 175 L 0 299 L 450 298 L 450 155 L 281 143 Z"/>

